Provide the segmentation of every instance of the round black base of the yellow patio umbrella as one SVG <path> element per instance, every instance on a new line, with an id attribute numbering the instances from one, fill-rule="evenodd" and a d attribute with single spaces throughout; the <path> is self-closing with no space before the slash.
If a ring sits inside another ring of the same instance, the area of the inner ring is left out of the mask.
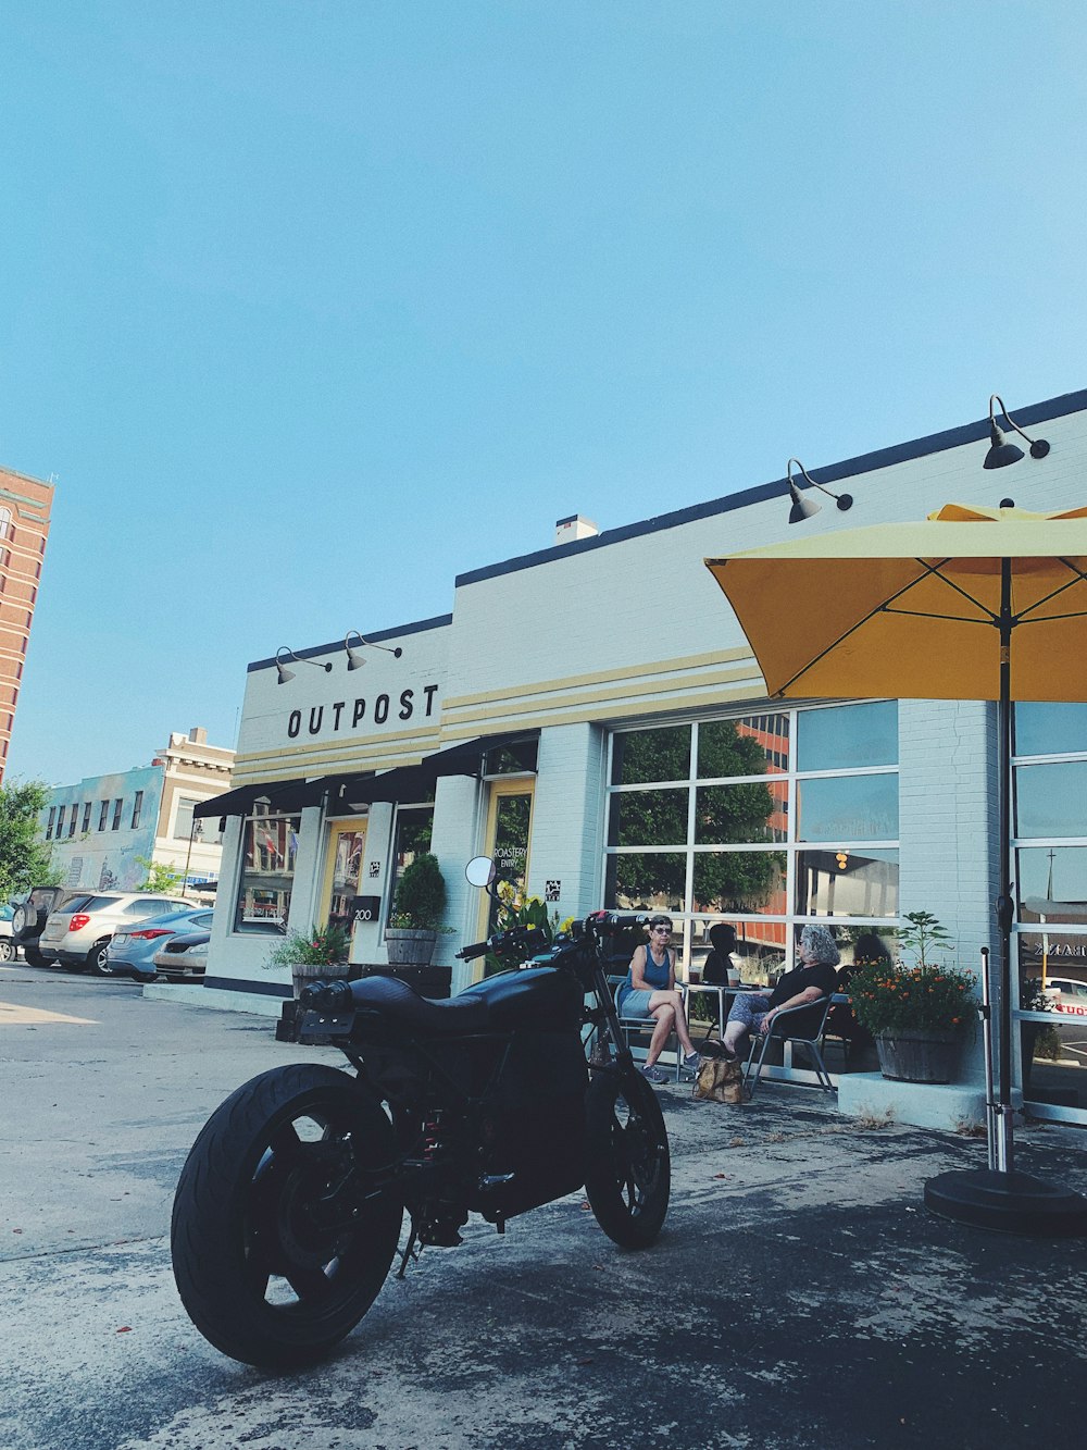
<path id="1" fill-rule="evenodd" d="M 1087 1198 L 1029 1173 L 941 1173 L 925 1185 L 925 1206 L 971 1228 L 1036 1238 L 1087 1235 Z"/>

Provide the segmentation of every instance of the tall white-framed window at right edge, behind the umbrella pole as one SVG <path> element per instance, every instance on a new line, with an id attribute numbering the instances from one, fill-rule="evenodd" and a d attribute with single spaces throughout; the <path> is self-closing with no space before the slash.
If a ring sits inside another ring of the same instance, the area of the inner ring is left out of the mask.
<path id="1" fill-rule="evenodd" d="M 1016 705 L 1012 845 L 1023 1098 L 1084 1121 L 1087 705 Z"/>

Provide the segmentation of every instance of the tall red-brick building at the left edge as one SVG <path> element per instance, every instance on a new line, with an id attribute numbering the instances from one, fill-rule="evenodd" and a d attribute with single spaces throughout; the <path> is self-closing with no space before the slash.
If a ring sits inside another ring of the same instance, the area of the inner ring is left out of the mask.
<path id="1" fill-rule="evenodd" d="M 0 782 L 49 536 L 52 484 L 0 468 Z"/>

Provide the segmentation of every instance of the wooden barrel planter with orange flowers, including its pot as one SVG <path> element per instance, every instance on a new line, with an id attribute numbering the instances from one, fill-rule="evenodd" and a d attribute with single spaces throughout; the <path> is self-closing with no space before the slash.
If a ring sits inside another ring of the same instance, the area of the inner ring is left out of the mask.
<path id="1" fill-rule="evenodd" d="M 949 1083 L 958 1076 L 974 977 L 930 960 L 951 937 L 926 911 L 907 912 L 899 942 L 915 957 L 862 963 L 849 982 L 854 1016 L 875 1038 L 880 1070 L 900 1082 Z"/>

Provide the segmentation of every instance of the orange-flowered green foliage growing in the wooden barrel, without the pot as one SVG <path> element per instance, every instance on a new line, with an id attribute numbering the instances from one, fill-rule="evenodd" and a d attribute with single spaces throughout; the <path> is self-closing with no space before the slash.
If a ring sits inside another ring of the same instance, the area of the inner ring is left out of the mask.
<path id="1" fill-rule="evenodd" d="M 870 1032 L 938 1028 L 964 1031 L 974 1018 L 970 972 L 929 960 L 951 948 L 951 937 L 930 912 L 907 912 L 899 941 L 916 961 L 861 963 L 849 979 L 854 1016 Z"/>

